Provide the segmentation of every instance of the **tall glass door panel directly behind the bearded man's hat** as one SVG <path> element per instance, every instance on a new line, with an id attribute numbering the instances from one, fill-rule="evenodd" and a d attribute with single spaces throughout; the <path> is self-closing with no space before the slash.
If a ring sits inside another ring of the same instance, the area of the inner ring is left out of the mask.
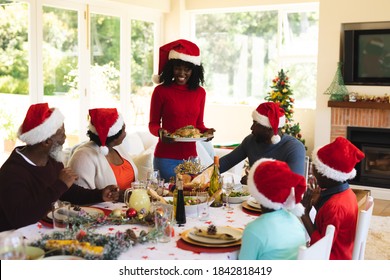
<path id="1" fill-rule="evenodd" d="M 43 101 L 65 116 L 66 146 L 79 141 L 79 11 L 42 7 Z"/>

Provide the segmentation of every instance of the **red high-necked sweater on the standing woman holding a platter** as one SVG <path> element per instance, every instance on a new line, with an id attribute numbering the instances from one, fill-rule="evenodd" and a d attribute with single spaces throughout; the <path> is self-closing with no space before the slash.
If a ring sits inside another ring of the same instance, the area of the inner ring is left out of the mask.
<path id="1" fill-rule="evenodd" d="M 203 123 L 206 91 L 202 87 L 188 90 L 186 85 L 158 85 L 153 92 L 150 105 L 149 130 L 158 137 L 162 127 L 168 133 L 187 125 L 201 132 L 207 130 Z M 196 156 L 195 142 L 162 143 L 158 141 L 154 155 L 159 158 L 188 159 Z"/>

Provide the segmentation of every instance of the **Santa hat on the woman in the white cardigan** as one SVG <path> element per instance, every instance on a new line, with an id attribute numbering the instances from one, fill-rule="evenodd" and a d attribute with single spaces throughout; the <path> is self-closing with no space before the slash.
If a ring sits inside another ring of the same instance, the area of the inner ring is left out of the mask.
<path id="1" fill-rule="evenodd" d="M 123 118 L 115 108 L 97 108 L 89 110 L 89 130 L 100 139 L 100 150 L 103 155 L 108 154 L 107 137 L 114 136 L 123 127 Z"/>

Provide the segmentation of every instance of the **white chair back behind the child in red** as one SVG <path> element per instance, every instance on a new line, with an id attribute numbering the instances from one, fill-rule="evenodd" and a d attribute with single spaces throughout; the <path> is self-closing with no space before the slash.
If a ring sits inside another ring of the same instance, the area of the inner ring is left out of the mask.
<path id="1" fill-rule="evenodd" d="M 352 251 L 353 260 L 364 260 L 364 252 L 366 250 L 368 230 L 370 228 L 373 209 L 374 198 L 368 196 L 364 209 L 359 212 L 356 224 L 355 242 Z"/>

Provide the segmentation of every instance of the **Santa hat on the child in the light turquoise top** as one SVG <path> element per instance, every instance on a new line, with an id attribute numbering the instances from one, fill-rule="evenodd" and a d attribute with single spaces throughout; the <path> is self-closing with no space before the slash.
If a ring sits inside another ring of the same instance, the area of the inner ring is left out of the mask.
<path id="1" fill-rule="evenodd" d="M 266 208 L 284 208 L 298 217 L 304 213 L 300 202 L 306 191 L 306 180 L 283 161 L 270 158 L 256 161 L 248 174 L 248 189 Z"/>

